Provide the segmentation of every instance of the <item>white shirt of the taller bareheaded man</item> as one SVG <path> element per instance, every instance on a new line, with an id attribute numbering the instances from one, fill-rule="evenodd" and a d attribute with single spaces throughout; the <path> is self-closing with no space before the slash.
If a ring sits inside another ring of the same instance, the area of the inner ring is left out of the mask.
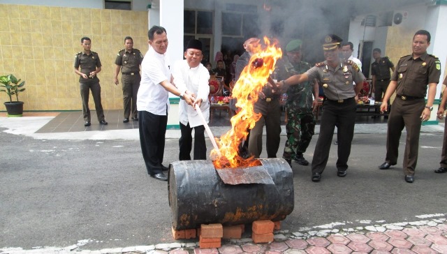
<path id="1" fill-rule="evenodd" d="M 169 92 L 160 84 L 170 81 L 169 59 L 150 47 L 141 63 L 141 82 L 137 94 L 137 110 L 166 116 Z"/>

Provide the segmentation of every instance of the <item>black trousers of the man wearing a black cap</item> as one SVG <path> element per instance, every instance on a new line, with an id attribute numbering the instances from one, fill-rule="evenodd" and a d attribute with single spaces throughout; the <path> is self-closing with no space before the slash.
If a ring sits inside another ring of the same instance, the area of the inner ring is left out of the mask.
<path id="1" fill-rule="evenodd" d="M 180 123 L 180 132 L 182 137 L 179 139 L 179 160 L 191 160 L 191 149 L 193 137 L 191 135 L 194 129 L 194 160 L 207 159 L 207 145 L 205 144 L 205 126 L 189 127 Z"/>

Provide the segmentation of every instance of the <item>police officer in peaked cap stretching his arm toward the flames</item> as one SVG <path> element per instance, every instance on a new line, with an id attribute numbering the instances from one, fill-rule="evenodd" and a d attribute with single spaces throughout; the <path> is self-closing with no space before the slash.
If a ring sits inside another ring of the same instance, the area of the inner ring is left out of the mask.
<path id="1" fill-rule="evenodd" d="M 316 63 L 306 73 L 293 75 L 277 83 L 280 88 L 314 79 L 323 84 L 326 100 L 323 104 L 320 135 L 312 159 L 312 181 L 320 181 L 321 174 L 328 163 L 335 124 L 338 126 L 337 176 L 345 177 L 348 169 L 347 162 L 351 154 L 356 122 L 356 98 L 365 76 L 353 61 L 339 59 L 341 42 L 342 38 L 335 34 L 325 36 L 322 42 L 325 61 Z M 352 85 L 353 82 L 356 86 Z"/>

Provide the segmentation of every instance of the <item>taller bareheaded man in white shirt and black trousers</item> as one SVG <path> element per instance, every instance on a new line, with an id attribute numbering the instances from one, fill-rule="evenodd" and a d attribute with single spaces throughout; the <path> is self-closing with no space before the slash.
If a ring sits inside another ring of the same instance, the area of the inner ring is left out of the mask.
<path id="1" fill-rule="evenodd" d="M 169 92 L 180 96 L 193 105 L 193 94 L 186 89 L 177 89 L 170 83 L 171 73 L 166 50 L 166 29 L 154 26 L 147 33 L 151 46 L 141 63 L 141 82 L 137 94 L 138 127 L 142 157 L 147 173 L 155 179 L 167 181 L 163 170 L 166 125 L 168 124 Z"/>

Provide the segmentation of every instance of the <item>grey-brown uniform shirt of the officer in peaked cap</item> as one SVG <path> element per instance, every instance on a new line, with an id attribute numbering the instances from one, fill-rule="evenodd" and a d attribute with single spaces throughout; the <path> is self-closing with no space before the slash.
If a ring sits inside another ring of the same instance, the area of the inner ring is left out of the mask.
<path id="1" fill-rule="evenodd" d="M 355 97 L 353 82 L 359 84 L 365 80 L 365 75 L 351 60 L 339 62 L 336 68 L 328 66 L 326 61 L 316 63 L 306 74 L 309 80 L 317 79 L 321 82 L 324 94 L 329 100 Z"/>

